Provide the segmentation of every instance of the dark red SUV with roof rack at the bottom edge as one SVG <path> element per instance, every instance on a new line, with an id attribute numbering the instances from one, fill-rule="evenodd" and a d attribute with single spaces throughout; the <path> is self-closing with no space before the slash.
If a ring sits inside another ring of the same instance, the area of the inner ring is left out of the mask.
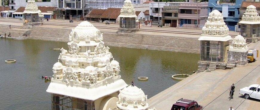
<path id="1" fill-rule="evenodd" d="M 171 110 L 203 110 L 203 106 L 198 105 L 194 100 L 179 99 L 172 105 Z"/>

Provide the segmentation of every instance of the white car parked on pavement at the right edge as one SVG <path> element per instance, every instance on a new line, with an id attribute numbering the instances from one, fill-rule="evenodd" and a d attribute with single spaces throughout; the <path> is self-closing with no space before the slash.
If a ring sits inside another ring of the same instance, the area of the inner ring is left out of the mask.
<path id="1" fill-rule="evenodd" d="M 252 84 L 249 87 L 244 87 L 239 90 L 239 94 L 244 95 L 246 99 L 260 99 L 260 86 L 259 84 Z"/>

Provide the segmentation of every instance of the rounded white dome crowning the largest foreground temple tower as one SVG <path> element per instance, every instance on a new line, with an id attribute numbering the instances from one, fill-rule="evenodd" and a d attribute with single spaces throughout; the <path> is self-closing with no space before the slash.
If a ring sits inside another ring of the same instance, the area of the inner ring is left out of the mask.
<path id="1" fill-rule="evenodd" d="M 83 21 L 70 34 L 70 41 L 103 40 L 103 34 L 88 21 Z"/>

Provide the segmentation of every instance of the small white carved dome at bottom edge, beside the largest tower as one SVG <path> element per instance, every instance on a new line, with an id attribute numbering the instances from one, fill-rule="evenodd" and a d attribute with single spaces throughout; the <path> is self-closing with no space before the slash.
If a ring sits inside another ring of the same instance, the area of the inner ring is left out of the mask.
<path id="1" fill-rule="evenodd" d="M 126 110 L 144 110 L 148 108 L 147 95 L 136 86 L 128 86 L 120 90 L 117 107 Z"/>

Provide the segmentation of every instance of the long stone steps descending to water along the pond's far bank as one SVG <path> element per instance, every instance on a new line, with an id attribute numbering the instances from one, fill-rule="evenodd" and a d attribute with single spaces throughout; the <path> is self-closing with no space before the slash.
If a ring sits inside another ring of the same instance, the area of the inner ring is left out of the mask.
<path id="1" fill-rule="evenodd" d="M 22 27 L 1 26 L 0 34 L 11 32 L 12 39 L 36 39 L 68 42 L 68 36 L 71 29 L 55 29 L 33 27 L 31 30 L 24 30 Z M 193 37 L 175 37 L 175 36 L 156 36 L 148 34 L 116 34 L 113 32 L 102 32 L 103 42 L 108 46 L 142 48 L 151 50 L 176 51 L 186 53 L 200 53 L 200 41 Z M 7 35 L 8 35 L 7 34 Z M 27 37 L 25 36 L 27 35 Z"/>

